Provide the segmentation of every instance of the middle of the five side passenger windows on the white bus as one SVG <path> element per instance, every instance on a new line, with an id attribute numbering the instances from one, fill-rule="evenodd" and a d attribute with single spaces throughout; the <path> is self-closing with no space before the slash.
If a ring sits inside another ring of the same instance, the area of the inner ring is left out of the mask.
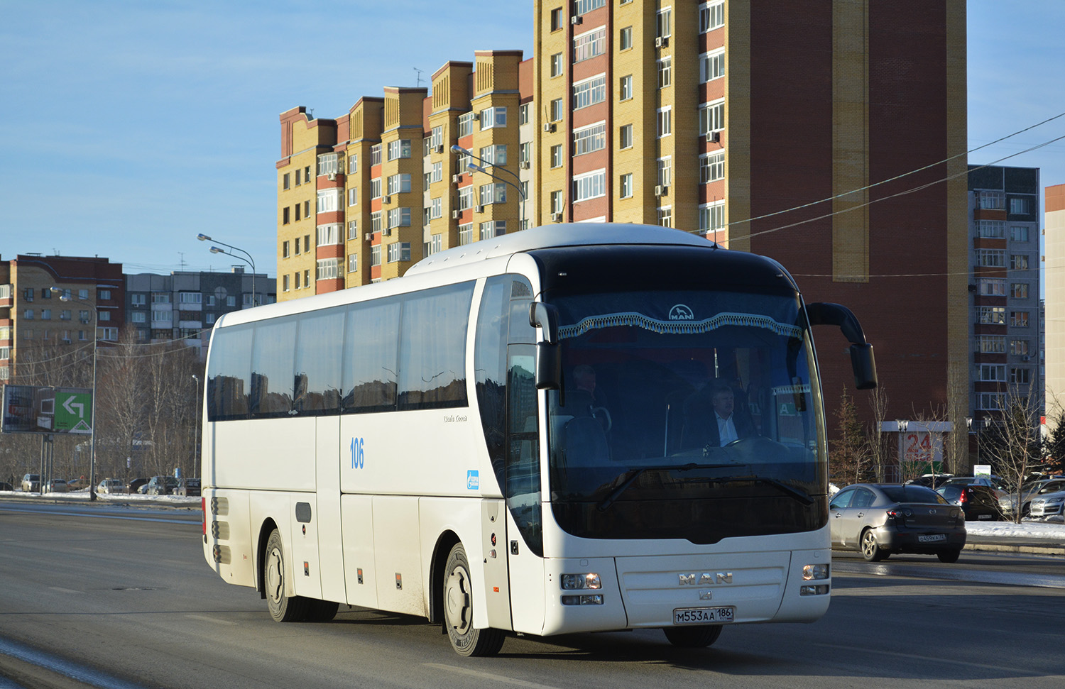
<path id="1" fill-rule="evenodd" d="M 299 317 L 296 347 L 296 390 L 293 409 L 300 414 L 340 411 L 344 309 L 305 313 Z"/>

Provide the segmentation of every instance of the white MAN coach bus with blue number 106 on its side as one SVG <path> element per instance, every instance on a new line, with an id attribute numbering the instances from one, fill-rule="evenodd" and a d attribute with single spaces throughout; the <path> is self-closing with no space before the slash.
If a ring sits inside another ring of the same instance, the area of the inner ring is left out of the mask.
<path id="1" fill-rule="evenodd" d="M 508 631 L 705 646 L 727 624 L 815 621 L 832 586 L 818 324 L 874 387 L 854 316 L 804 305 L 776 262 L 597 224 L 227 314 L 203 555 L 275 620 L 423 616 L 462 655 Z"/>

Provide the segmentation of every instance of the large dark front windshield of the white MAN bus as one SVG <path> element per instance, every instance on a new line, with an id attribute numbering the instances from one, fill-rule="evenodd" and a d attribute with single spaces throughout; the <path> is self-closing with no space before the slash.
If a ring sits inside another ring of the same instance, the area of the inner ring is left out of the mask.
<path id="1" fill-rule="evenodd" d="M 797 295 L 553 296 L 550 488 L 564 530 L 712 543 L 823 526 L 823 412 Z"/>

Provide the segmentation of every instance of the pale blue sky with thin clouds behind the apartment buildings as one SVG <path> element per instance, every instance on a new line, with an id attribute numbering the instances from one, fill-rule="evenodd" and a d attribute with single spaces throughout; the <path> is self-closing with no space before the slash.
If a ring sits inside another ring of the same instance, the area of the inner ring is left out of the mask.
<path id="1" fill-rule="evenodd" d="M 337 117 L 474 50 L 529 56 L 532 4 L 0 0 L 0 257 L 228 269 L 203 232 L 273 276 L 278 115 Z M 1065 2 L 1005 6 L 968 2 L 970 148 L 1065 112 Z M 1063 135 L 1065 118 L 969 162 Z M 1001 164 L 1065 183 L 1063 152 L 1065 141 Z"/>

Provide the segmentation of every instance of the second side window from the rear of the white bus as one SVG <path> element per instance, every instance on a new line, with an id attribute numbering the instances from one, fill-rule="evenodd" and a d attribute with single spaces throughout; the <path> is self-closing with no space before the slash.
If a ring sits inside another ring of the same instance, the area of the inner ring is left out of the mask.
<path id="1" fill-rule="evenodd" d="M 296 318 L 258 323 L 251 345 L 251 416 L 288 416 L 295 392 Z"/>

